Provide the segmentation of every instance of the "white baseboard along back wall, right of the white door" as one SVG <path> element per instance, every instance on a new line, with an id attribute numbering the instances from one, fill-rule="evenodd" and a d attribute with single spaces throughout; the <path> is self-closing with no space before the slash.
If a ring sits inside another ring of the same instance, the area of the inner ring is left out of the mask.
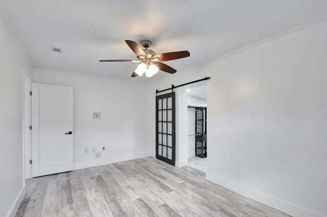
<path id="1" fill-rule="evenodd" d="M 102 158 L 102 159 L 96 159 L 96 160 L 85 161 L 85 162 L 74 162 L 74 170 L 84 169 L 88 167 L 96 167 L 105 164 L 112 164 L 114 162 L 132 160 L 132 159 L 149 157 L 149 156 L 152 156 L 152 152 L 143 152 L 143 153 L 129 154 L 129 155 L 123 155 L 117 157 Z"/>

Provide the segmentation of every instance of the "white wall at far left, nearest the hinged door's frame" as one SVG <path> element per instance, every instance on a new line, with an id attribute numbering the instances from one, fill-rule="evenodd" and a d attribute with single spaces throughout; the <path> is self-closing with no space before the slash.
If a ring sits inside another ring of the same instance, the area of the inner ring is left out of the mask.
<path id="1" fill-rule="evenodd" d="M 0 216 L 14 216 L 25 194 L 22 108 L 24 71 L 29 73 L 31 66 L 1 10 L 0 47 Z"/>

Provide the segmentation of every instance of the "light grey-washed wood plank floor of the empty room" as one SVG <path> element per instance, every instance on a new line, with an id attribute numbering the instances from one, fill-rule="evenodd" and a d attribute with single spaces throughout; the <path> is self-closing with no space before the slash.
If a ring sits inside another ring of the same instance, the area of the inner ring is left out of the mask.
<path id="1" fill-rule="evenodd" d="M 154 157 L 27 179 L 16 216 L 289 216 Z"/>

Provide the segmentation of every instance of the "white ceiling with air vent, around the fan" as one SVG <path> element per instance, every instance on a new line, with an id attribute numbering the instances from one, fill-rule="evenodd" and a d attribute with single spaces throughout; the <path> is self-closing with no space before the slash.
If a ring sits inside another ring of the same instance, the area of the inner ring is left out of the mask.
<path id="1" fill-rule="evenodd" d="M 327 15 L 325 0 L 110 1 L 0 0 L 9 25 L 36 68 L 147 82 L 131 78 L 136 63 L 124 40 L 150 39 L 156 53 L 189 50 L 165 62 L 177 73 L 230 51 Z M 0 8 L 0 9 L 1 9 Z M 51 51 L 62 48 L 62 53 Z"/>

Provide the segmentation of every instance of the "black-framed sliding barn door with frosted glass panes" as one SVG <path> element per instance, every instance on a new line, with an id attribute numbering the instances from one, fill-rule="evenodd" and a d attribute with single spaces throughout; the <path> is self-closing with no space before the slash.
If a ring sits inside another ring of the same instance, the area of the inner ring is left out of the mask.
<path id="1" fill-rule="evenodd" d="M 175 166 L 175 93 L 156 97 L 156 158 Z"/>

